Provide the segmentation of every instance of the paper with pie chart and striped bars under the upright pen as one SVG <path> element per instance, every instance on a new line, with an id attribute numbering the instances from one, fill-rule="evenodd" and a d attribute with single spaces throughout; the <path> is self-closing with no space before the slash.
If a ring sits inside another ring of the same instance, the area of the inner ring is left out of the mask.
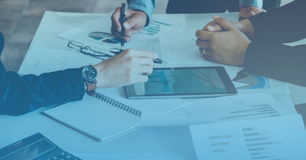
<path id="1" fill-rule="evenodd" d="M 109 50 L 109 48 L 120 48 L 120 39 L 116 38 L 111 33 L 111 15 L 113 12 L 100 17 L 97 20 L 84 24 L 79 28 L 74 28 L 70 31 L 59 34 L 60 37 L 83 43 L 88 46 Z M 125 48 L 138 48 L 148 41 L 159 37 L 161 26 L 179 25 L 174 21 L 167 21 L 162 18 L 151 18 L 150 23 L 143 29 L 142 32 L 133 34 L 131 41 L 125 43 Z"/>

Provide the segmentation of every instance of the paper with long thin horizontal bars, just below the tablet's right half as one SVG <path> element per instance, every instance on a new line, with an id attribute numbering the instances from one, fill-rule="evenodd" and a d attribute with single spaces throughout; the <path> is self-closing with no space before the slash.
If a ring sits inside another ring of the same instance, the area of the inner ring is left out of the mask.
<path id="1" fill-rule="evenodd" d="M 234 121 L 289 115 L 271 94 L 253 93 L 192 101 L 171 115 L 208 121 Z"/>

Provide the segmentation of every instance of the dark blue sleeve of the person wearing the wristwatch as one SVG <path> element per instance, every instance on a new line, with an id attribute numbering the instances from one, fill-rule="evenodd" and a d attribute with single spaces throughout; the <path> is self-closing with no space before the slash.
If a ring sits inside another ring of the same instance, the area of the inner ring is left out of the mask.
<path id="1" fill-rule="evenodd" d="M 4 38 L 0 32 L 0 55 Z M 0 60 L 0 114 L 21 115 L 39 107 L 81 100 L 81 69 L 66 69 L 39 76 L 6 72 Z"/>

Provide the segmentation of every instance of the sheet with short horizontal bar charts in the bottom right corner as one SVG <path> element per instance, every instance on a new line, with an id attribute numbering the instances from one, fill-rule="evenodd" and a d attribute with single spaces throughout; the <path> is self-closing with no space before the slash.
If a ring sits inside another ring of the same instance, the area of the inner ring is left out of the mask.
<path id="1" fill-rule="evenodd" d="M 190 126 L 197 159 L 294 159 L 306 157 L 301 115 Z"/>

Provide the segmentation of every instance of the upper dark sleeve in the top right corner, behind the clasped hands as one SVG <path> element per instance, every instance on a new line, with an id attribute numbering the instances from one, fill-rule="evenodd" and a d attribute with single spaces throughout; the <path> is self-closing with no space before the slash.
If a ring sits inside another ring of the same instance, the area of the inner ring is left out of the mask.
<path id="1" fill-rule="evenodd" d="M 296 0 L 267 13 L 249 17 L 255 40 L 290 43 L 306 38 L 305 7 L 305 0 Z"/>

